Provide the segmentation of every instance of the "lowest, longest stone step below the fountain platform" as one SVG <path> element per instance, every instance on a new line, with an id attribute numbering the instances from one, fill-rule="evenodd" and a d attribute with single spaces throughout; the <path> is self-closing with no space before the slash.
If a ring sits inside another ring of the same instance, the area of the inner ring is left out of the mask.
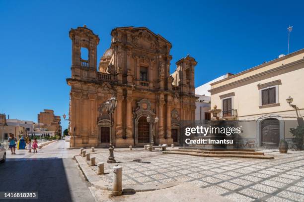
<path id="1" fill-rule="evenodd" d="M 238 158 L 259 158 L 259 159 L 274 159 L 270 155 L 252 155 L 252 154 L 213 154 L 213 153 L 200 153 L 200 152 L 180 152 L 180 151 L 163 151 L 162 153 L 170 154 L 183 154 L 203 157 L 238 157 Z"/>

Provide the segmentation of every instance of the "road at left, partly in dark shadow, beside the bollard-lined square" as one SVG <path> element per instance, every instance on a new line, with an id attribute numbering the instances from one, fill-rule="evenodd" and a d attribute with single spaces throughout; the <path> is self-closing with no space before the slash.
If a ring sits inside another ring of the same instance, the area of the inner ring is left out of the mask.
<path id="1" fill-rule="evenodd" d="M 66 152 L 65 142 L 52 143 L 39 152 Z M 7 151 L 6 153 L 8 153 Z M 18 151 L 19 152 L 19 151 Z M 23 151 L 24 153 L 26 151 Z M 22 153 L 20 153 L 22 154 Z M 38 153 L 39 154 L 39 153 Z M 0 191 L 38 192 L 38 200 L 0 200 L 3 202 L 93 202 L 76 160 L 71 158 L 9 158 L 0 164 Z M 21 155 L 20 155 L 21 156 Z"/>

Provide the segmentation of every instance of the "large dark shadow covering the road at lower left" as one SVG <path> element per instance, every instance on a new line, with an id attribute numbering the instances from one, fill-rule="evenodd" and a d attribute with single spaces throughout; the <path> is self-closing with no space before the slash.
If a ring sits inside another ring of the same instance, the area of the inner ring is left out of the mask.
<path id="1" fill-rule="evenodd" d="M 0 164 L 0 191 L 38 192 L 38 200 L 11 200 L 14 202 L 72 202 L 61 158 L 7 159 Z"/>

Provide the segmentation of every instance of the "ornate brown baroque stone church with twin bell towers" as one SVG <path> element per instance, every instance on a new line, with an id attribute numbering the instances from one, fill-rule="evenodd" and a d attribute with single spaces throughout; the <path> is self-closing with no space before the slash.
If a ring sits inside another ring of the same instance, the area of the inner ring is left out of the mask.
<path id="1" fill-rule="evenodd" d="M 189 55 L 170 75 L 172 44 L 146 27 L 118 27 L 97 66 L 98 35 L 71 29 L 70 147 L 116 147 L 180 143 L 180 121 L 195 119 L 194 67 Z M 84 58 L 82 50 L 87 49 Z M 105 101 L 118 103 L 112 120 Z M 158 117 L 150 125 L 147 116 Z M 153 133 L 153 134 L 152 134 Z"/>

